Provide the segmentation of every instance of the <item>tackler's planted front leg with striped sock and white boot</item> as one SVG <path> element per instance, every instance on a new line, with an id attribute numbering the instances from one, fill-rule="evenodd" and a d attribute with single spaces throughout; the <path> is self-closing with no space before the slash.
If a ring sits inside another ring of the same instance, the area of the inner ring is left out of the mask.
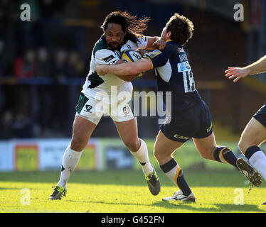
<path id="1" fill-rule="evenodd" d="M 154 156 L 156 157 L 161 170 L 163 170 L 166 176 L 169 177 L 169 179 L 171 179 L 171 181 L 180 189 L 179 191 L 174 192 L 172 196 L 165 197 L 163 199 L 164 201 L 195 201 L 195 196 L 186 183 L 181 167 L 179 167 L 172 156 L 174 151 L 181 147 L 181 145 L 183 145 L 183 143 L 166 138 L 161 131 L 159 131 L 156 137 Z"/>

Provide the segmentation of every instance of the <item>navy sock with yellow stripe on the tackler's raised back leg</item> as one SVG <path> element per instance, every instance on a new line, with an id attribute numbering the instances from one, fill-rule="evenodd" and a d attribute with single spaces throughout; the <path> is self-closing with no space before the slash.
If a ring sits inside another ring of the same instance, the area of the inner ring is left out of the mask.
<path id="1" fill-rule="evenodd" d="M 213 157 L 218 162 L 228 163 L 238 168 L 236 165 L 238 157 L 236 157 L 233 151 L 228 147 L 217 147 L 216 150 L 214 150 Z"/>

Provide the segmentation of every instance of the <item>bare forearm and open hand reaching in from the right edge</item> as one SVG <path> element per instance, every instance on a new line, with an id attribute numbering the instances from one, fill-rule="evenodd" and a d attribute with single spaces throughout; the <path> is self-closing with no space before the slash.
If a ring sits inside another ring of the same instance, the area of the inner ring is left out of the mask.
<path id="1" fill-rule="evenodd" d="M 225 77 L 229 79 L 235 78 L 233 82 L 238 82 L 243 77 L 262 72 L 266 72 L 266 55 L 246 67 L 228 67 L 228 70 L 225 70 Z"/>

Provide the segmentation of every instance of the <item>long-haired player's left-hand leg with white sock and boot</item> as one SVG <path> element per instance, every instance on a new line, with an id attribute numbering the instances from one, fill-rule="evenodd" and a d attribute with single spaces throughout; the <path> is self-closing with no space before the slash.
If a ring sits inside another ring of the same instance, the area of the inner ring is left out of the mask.
<path id="1" fill-rule="evenodd" d="M 87 145 L 90 135 L 95 127 L 95 123 L 92 123 L 83 117 L 75 116 L 72 140 L 63 155 L 60 180 L 49 199 L 61 199 L 62 196 L 65 196 L 68 179 L 78 165 L 82 150 Z"/>

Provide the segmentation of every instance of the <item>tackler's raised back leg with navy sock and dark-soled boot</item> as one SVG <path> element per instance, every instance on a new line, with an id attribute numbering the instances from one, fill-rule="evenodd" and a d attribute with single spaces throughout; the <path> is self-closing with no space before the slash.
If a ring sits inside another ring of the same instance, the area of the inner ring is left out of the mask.
<path id="1" fill-rule="evenodd" d="M 248 162 L 242 157 L 235 157 L 233 151 L 228 147 L 216 145 L 214 133 L 206 138 L 193 138 L 193 142 L 203 158 L 235 166 L 255 186 L 260 186 L 262 183 L 257 171 L 248 165 Z"/>

